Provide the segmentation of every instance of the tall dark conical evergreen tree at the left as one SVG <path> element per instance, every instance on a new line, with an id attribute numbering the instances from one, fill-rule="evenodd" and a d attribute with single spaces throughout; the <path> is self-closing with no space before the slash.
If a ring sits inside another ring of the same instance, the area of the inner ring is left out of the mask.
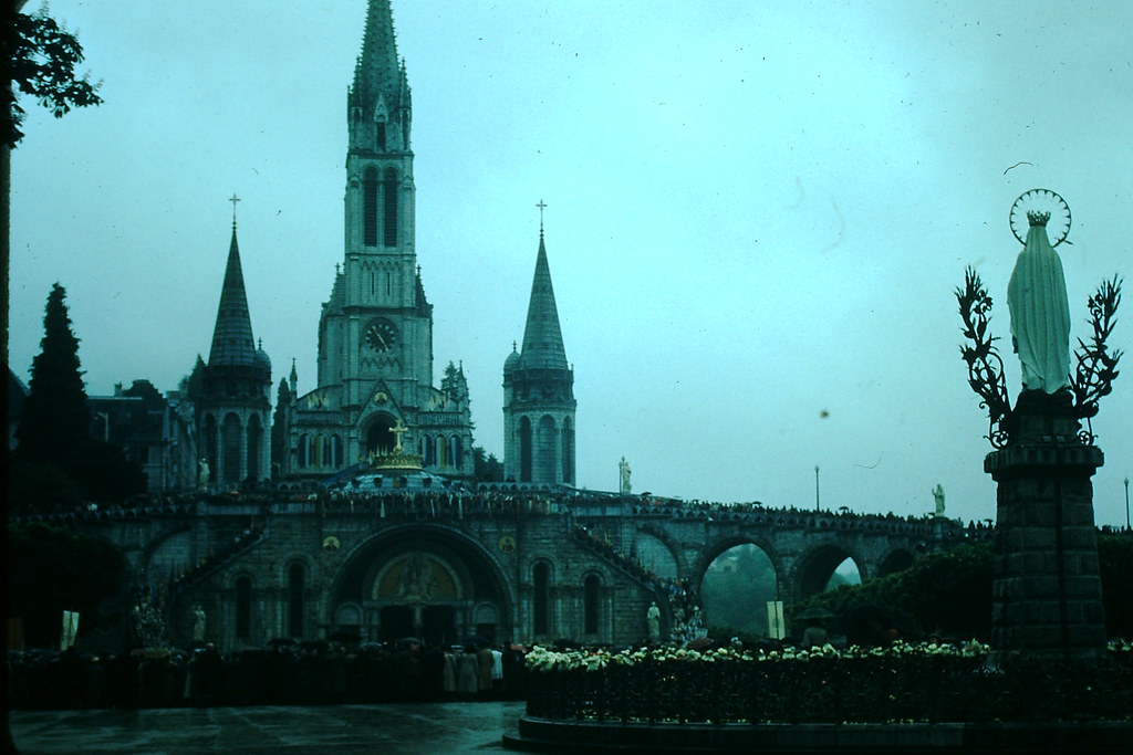
<path id="1" fill-rule="evenodd" d="M 71 469 L 90 437 L 91 410 L 79 369 L 78 338 L 56 283 L 43 318 L 42 351 L 32 362 L 32 381 L 16 439 L 17 455 L 34 464 Z"/>

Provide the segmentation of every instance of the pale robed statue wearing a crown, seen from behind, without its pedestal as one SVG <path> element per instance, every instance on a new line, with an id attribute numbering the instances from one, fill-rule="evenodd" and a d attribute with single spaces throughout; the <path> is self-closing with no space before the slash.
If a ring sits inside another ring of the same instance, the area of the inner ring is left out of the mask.
<path id="1" fill-rule="evenodd" d="M 1026 242 L 1007 284 L 1011 335 L 1023 388 L 1049 394 L 1070 385 L 1070 300 L 1062 260 L 1047 239 L 1050 213 L 1029 212 L 1026 218 Z"/>

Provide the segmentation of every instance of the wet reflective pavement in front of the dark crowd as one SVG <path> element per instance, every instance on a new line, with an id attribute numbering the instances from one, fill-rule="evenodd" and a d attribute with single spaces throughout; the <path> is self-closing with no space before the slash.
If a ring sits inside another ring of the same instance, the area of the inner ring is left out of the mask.
<path id="1" fill-rule="evenodd" d="M 16 752 L 503 753 L 522 702 L 9 711 Z"/>

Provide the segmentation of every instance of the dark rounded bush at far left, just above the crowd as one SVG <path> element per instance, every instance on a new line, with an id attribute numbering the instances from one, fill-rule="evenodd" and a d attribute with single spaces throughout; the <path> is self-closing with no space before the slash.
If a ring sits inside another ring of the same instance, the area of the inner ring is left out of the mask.
<path id="1" fill-rule="evenodd" d="M 25 642 L 57 645 L 63 610 L 79 612 L 79 634 L 113 623 L 102 608 L 123 586 L 126 558 L 103 540 L 41 522 L 8 526 L 8 616 L 23 617 Z"/>

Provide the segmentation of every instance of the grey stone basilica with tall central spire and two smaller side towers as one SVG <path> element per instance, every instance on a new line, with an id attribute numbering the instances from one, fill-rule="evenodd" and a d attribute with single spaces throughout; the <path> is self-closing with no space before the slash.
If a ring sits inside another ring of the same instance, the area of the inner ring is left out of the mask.
<path id="1" fill-rule="evenodd" d="M 212 349 L 186 392 L 197 413 L 196 469 L 210 484 L 325 483 L 393 469 L 394 452 L 401 473 L 383 482 L 409 484 L 406 470 L 474 477 L 462 367 L 450 362 L 434 385 L 433 303 L 415 240 L 412 97 L 387 1 L 369 2 L 346 112 L 346 238 L 318 318 L 317 387 L 299 394 L 292 366 L 274 415 L 271 361 L 253 336 L 233 220 Z M 506 479 L 572 484 L 573 374 L 542 229 L 522 350 L 508 357 L 503 383 Z"/>

